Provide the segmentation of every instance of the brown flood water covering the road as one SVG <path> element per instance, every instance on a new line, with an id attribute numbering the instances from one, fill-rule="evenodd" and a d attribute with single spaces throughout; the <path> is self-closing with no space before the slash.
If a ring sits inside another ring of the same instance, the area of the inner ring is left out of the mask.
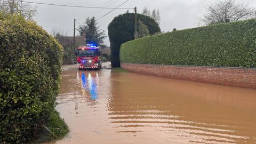
<path id="1" fill-rule="evenodd" d="M 134 73 L 65 70 L 49 143 L 256 143 L 256 90 Z"/>

